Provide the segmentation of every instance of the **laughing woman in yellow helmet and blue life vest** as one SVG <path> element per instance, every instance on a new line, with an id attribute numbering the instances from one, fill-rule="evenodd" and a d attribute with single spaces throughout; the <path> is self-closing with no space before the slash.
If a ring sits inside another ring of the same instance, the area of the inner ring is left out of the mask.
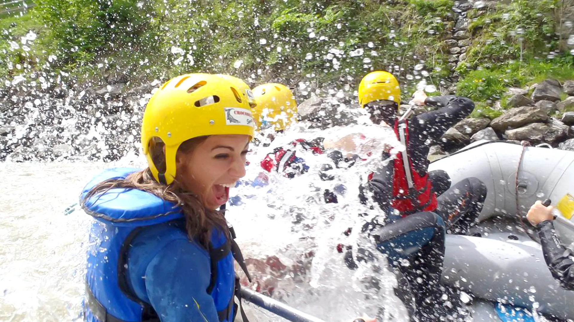
<path id="1" fill-rule="evenodd" d="M 230 81 L 187 74 L 149 100 L 148 167 L 115 168 L 82 192 L 95 221 L 87 321 L 233 321 L 234 254 L 223 211 L 245 175 L 254 136 L 249 102 Z"/>

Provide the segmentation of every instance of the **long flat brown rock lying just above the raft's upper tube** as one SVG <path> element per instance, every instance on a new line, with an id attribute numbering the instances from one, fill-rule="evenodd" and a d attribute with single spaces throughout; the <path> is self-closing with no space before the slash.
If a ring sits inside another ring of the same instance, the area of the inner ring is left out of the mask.
<path id="1" fill-rule="evenodd" d="M 560 122 L 556 120 L 556 122 Z M 525 127 L 509 129 L 505 132 L 509 140 L 526 140 L 533 144 L 538 143 L 556 143 L 558 140 L 565 138 L 568 127 L 564 123 L 550 122 L 532 123 Z"/>

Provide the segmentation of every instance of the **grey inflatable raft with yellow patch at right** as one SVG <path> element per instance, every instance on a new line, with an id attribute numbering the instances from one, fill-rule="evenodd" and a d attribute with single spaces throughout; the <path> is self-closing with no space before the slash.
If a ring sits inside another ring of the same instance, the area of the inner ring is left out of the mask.
<path id="1" fill-rule="evenodd" d="M 469 307 L 473 320 L 507 321 L 500 305 L 486 301 L 574 319 L 574 292 L 554 280 L 540 245 L 519 229 L 517 220 L 536 200 L 550 198 L 563 216 L 556 222 L 562 241 L 573 241 L 574 152 L 482 141 L 429 166 L 430 171 L 439 169 L 453 183 L 474 176 L 488 187 L 481 222 L 472 231 L 482 237 L 446 239 L 443 281 L 480 299 Z"/>

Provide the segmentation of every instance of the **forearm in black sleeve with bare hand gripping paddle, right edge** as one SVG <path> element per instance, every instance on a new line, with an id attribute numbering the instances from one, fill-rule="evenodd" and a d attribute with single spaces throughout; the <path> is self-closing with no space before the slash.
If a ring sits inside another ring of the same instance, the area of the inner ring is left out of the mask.
<path id="1" fill-rule="evenodd" d="M 574 290 L 574 261 L 554 230 L 552 209 L 552 206 L 546 207 L 541 201 L 537 201 L 530 207 L 526 218 L 538 231 L 542 253 L 550 273 L 564 289 Z"/>

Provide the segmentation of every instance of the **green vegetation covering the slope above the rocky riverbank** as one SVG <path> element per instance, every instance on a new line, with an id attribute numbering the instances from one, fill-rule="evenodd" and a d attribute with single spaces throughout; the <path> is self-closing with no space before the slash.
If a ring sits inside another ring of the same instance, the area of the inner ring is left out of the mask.
<path id="1" fill-rule="evenodd" d="M 513 0 L 470 10 L 471 46 L 456 68 L 458 93 L 491 105 L 509 86 L 549 75 L 574 78 L 573 56 L 556 33 L 557 8 L 564 1 L 572 0 Z M 370 70 L 386 69 L 406 83 L 406 99 L 418 82 L 411 76 L 417 76 L 414 66 L 421 60 L 429 83 L 439 87 L 452 80 L 446 43 L 457 17 L 453 5 L 451 0 L 43 0 L 22 17 L 0 19 L 0 79 L 42 71 L 135 84 L 205 71 L 294 85 L 358 81 Z M 29 30 L 37 38 L 24 49 L 21 38 Z M 498 112 L 478 110 L 489 117 Z"/>

